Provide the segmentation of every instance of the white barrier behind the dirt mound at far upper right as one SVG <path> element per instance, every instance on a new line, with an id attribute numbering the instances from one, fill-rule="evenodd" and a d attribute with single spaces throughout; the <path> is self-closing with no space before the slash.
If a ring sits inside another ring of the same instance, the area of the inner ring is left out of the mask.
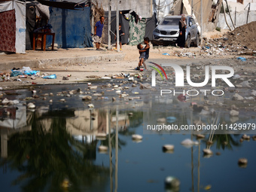
<path id="1" fill-rule="evenodd" d="M 246 24 L 247 13 L 248 13 L 247 10 L 236 12 L 236 27 L 243 26 Z M 226 17 L 227 17 L 228 25 L 233 30 L 233 24 L 230 20 L 230 16 L 226 14 Z M 235 12 L 231 12 L 231 17 L 233 19 L 233 22 L 235 23 Z M 248 23 L 251 23 L 252 21 L 256 21 L 256 11 L 250 11 L 248 14 Z M 224 14 L 220 14 L 217 26 L 220 27 L 221 29 L 229 29 L 226 24 Z"/>

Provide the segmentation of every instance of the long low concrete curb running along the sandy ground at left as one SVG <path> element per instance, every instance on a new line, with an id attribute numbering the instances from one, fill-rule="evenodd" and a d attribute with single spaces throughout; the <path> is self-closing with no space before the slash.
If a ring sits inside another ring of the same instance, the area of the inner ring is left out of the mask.
<path id="1" fill-rule="evenodd" d="M 20 61 L 1 62 L 0 70 L 5 71 L 8 69 L 20 68 L 23 66 L 30 67 L 31 69 L 44 68 L 48 66 L 62 66 L 73 65 L 78 63 L 92 63 L 101 61 L 115 61 L 123 60 L 125 53 L 118 54 L 102 54 L 98 56 L 79 56 L 79 57 L 67 57 L 67 58 L 52 58 L 52 59 L 23 59 Z"/>

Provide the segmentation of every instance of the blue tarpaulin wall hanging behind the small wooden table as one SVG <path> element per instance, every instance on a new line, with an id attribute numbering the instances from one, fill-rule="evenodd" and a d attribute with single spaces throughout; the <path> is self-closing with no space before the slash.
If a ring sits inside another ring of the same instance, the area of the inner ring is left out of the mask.
<path id="1" fill-rule="evenodd" d="M 62 48 L 93 47 L 90 26 L 90 7 L 84 10 L 51 8 L 49 24 L 55 32 L 55 44 Z M 47 46 L 52 37 L 47 36 Z"/>

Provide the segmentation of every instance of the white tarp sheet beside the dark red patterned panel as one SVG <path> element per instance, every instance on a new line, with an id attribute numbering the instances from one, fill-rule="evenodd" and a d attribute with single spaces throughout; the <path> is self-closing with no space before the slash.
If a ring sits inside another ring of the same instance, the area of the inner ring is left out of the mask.
<path id="1" fill-rule="evenodd" d="M 0 2 L 0 12 L 13 9 L 16 17 L 16 53 L 26 53 L 26 3 L 16 0 Z"/>

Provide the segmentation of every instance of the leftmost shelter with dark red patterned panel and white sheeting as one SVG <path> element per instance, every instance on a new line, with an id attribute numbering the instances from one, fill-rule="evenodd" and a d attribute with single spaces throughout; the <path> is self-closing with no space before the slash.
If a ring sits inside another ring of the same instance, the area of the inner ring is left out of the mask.
<path id="1" fill-rule="evenodd" d="M 15 11 L 14 11 L 15 10 Z M 8 13 L 6 11 L 9 11 Z M 10 19 L 15 14 L 15 20 Z M 8 15 L 8 16 L 7 16 Z M 9 19 L 6 20 L 6 17 Z M 12 27 L 11 27 L 12 26 Z M 14 33 L 15 26 L 15 33 Z M 16 53 L 26 51 L 26 3 L 17 0 L 0 2 L 0 50 Z M 15 41 L 15 44 L 14 44 Z"/>

